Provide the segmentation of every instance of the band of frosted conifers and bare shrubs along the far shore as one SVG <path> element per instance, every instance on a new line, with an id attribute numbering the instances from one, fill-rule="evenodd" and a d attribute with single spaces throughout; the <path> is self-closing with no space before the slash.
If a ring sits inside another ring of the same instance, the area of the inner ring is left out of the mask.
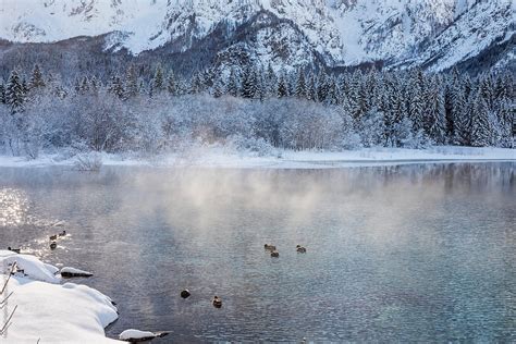
<path id="1" fill-rule="evenodd" d="M 470 77 L 452 70 L 274 71 L 247 65 L 189 77 L 134 66 L 102 79 L 67 81 L 12 70 L 0 81 L 0 152 L 173 151 L 188 142 L 342 150 L 432 145 L 513 148 L 511 73 Z"/>

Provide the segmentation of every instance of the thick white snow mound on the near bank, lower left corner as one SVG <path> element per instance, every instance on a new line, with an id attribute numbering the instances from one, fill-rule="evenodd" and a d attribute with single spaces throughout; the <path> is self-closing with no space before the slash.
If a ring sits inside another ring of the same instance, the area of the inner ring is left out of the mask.
<path id="1" fill-rule="evenodd" d="M 16 261 L 27 275 L 15 274 L 8 283 L 9 312 L 17 306 L 2 343 L 115 343 L 105 328 L 116 320 L 111 299 L 86 285 L 59 284 L 50 277 L 57 268 L 34 256 L 0 250 L 0 266 Z M 9 269 L 8 269 L 9 270 Z M 3 274 L 3 278 L 5 275 Z M 46 281 L 48 280 L 48 281 Z M 3 284 L 3 283 L 2 283 Z"/>

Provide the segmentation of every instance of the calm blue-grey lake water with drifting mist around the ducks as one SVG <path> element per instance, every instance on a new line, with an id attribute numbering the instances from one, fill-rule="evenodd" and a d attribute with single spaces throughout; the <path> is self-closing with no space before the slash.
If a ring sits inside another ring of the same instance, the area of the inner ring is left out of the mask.
<path id="1" fill-rule="evenodd" d="M 0 245 L 93 271 L 108 336 L 515 342 L 515 168 L 0 169 Z"/>

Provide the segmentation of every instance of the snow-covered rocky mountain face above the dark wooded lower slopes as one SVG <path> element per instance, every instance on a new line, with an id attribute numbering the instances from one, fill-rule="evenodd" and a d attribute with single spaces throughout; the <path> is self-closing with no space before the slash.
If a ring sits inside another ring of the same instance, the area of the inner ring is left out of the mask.
<path id="1" fill-rule="evenodd" d="M 513 39 L 512 0 L 0 0 L 0 37 L 107 36 L 105 49 L 185 52 L 208 37 L 275 65 L 447 69 Z M 211 36 L 210 36 L 211 35 Z M 514 45 L 505 59 L 514 59 Z"/>

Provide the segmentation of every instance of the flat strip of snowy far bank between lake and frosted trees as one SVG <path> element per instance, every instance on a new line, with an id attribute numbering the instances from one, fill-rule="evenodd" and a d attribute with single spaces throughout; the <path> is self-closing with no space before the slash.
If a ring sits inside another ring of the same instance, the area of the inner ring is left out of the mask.
<path id="1" fill-rule="evenodd" d="M 36 160 L 0 156 L 0 167 L 73 167 L 76 158 L 62 159 L 60 155 L 41 155 Z M 181 153 L 153 156 L 149 159 L 134 156 L 102 155 L 103 165 L 148 165 L 160 168 L 268 168 L 268 169 L 328 169 L 345 167 L 392 165 L 425 162 L 487 162 L 516 161 L 516 149 L 433 147 L 429 149 L 365 148 L 345 151 L 278 150 L 259 157 L 253 152 L 235 151 L 224 147 L 196 147 Z"/>

